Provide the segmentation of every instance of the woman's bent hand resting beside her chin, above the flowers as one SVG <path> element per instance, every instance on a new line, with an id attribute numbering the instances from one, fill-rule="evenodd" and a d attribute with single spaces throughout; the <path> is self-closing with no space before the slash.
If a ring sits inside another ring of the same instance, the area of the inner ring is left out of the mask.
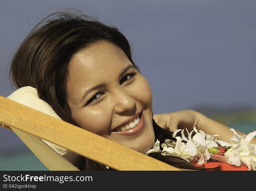
<path id="1" fill-rule="evenodd" d="M 190 132 L 193 130 L 193 127 L 198 126 L 200 115 L 202 114 L 193 110 L 181 110 L 172 113 L 156 114 L 153 116 L 153 119 L 160 127 L 169 131 L 187 128 Z"/>

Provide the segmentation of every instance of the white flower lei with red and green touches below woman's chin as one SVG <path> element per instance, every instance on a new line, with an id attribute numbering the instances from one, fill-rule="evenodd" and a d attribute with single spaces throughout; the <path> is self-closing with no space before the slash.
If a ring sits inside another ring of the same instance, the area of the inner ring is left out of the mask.
<path id="1" fill-rule="evenodd" d="M 169 144 L 170 140 L 165 140 L 165 143 L 161 144 L 163 148 L 161 151 L 160 142 L 157 140 L 152 149 L 149 149 L 146 154 L 151 152 L 161 152 L 162 155 L 175 154 L 198 165 L 207 162 L 211 158 L 236 166 L 242 164 L 247 166 L 248 170 L 256 170 L 256 145 L 250 144 L 250 141 L 256 135 L 256 131 L 246 136 L 240 136 L 233 128 L 230 130 L 234 133 L 234 136 L 230 139 L 231 143 L 214 139 L 219 135 L 206 134 L 204 131 L 197 130 L 196 127 L 190 133 L 186 129 L 188 138 L 184 135 L 184 129 L 177 129 L 173 132 L 173 138 L 176 138 L 174 148 Z M 181 131 L 182 137 L 176 137 L 179 131 Z M 195 135 L 191 137 L 193 132 L 195 132 Z M 184 143 L 182 140 L 187 142 Z"/>

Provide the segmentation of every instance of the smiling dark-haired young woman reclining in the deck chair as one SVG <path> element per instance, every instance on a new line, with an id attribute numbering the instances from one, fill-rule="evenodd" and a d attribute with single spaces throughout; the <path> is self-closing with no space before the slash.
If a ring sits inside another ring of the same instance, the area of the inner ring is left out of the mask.
<path id="1" fill-rule="evenodd" d="M 13 57 L 10 75 L 16 88 L 36 88 L 39 98 L 64 121 L 142 153 L 156 140 L 176 141 L 172 132 L 177 128 L 190 132 L 196 126 L 230 141 L 234 135 L 230 128 L 196 111 L 153 117 L 150 85 L 132 60 L 129 42 L 117 28 L 83 15 L 50 16 L 58 18 L 47 17 L 40 22 Z M 256 143 L 255 138 L 252 141 Z M 148 155 L 179 168 L 204 169 L 179 155 Z M 86 158 L 83 169 L 107 167 Z"/>

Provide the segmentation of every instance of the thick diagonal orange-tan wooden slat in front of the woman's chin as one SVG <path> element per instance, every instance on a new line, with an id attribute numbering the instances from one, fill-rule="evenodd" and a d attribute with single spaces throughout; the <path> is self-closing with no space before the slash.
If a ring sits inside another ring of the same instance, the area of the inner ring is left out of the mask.
<path id="1" fill-rule="evenodd" d="M 2 96 L 0 96 L 0 108 L 0 123 L 13 128 L 14 131 L 16 128 L 30 133 L 113 169 L 180 170 Z M 52 160 L 55 163 L 59 162 L 58 158 L 52 157 Z"/>

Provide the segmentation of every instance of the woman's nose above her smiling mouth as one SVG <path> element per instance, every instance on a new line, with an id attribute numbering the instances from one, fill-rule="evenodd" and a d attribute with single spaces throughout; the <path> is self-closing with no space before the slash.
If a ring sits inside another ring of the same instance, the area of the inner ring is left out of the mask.
<path id="1" fill-rule="evenodd" d="M 116 92 L 113 99 L 115 103 L 115 113 L 120 114 L 126 111 L 131 113 L 133 110 L 136 112 L 136 104 L 134 98 L 124 90 Z"/>

